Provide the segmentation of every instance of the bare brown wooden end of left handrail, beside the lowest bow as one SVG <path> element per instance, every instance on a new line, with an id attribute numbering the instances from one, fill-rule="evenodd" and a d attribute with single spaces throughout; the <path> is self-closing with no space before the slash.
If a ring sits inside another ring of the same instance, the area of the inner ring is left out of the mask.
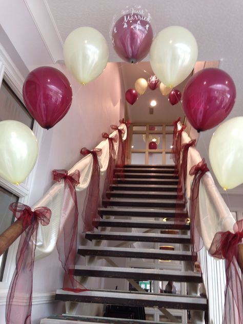
<path id="1" fill-rule="evenodd" d="M 23 227 L 23 219 L 17 219 L 3 234 L 0 235 L 0 255 L 21 235 L 26 228 Z"/>

